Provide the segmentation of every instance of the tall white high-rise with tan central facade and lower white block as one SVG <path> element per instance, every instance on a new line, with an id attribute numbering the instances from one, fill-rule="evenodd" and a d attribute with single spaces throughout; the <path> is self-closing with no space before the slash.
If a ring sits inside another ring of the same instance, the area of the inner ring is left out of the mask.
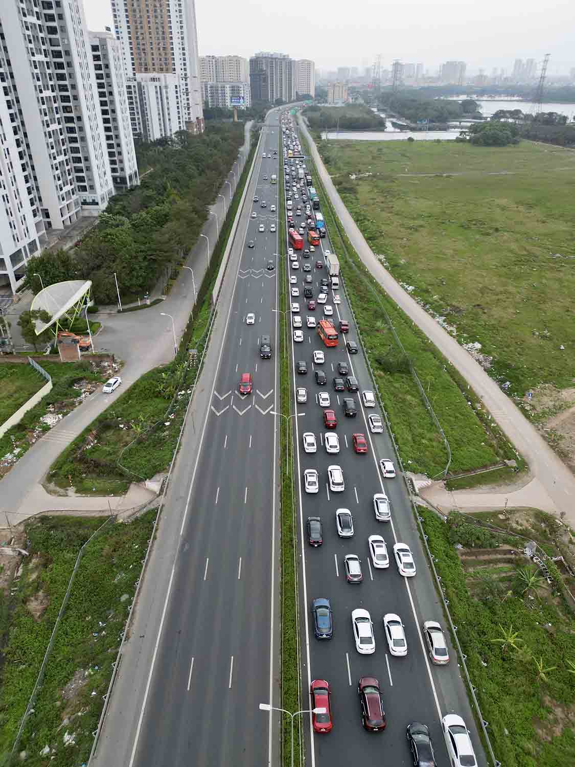
<path id="1" fill-rule="evenodd" d="M 111 2 L 116 36 L 122 44 L 133 133 L 150 141 L 177 130 L 201 133 L 204 117 L 194 0 Z"/>

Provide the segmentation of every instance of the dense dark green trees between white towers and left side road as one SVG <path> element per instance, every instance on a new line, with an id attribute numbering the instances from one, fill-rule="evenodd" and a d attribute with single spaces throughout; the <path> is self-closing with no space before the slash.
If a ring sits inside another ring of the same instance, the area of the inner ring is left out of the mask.
<path id="1" fill-rule="evenodd" d="M 198 239 L 207 208 L 222 186 L 244 141 L 243 123 L 214 123 L 199 136 L 179 131 L 171 138 L 136 144 L 140 174 L 135 186 L 110 199 L 97 225 L 74 249 L 44 251 L 28 261 L 25 288 L 54 282 L 92 281 L 97 303 L 120 294 L 142 296 L 156 284 L 166 265 Z"/>

